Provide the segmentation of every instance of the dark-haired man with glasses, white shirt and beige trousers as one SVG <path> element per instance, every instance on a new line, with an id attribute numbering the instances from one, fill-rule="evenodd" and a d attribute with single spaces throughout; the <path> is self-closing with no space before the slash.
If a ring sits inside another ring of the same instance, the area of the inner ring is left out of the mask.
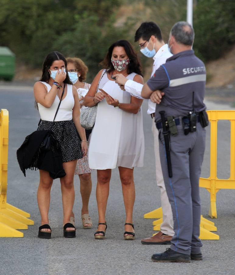
<path id="1" fill-rule="evenodd" d="M 168 49 L 168 45 L 164 43 L 161 35 L 161 30 L 158 25 L 154 22 L 144 22 L 140 25 L 138 30 L 135 32 L 135 42 L 139 43 L 141 52 L 146 57 L 152 57 L 154 60 L 152 75 L 155 71 L 162 65 L 166 63 L 167 58 L 171 57 L 172 54 Z M 151 76 L 152 76 L 151 75 Z M 121 87 L 122 90 L 126 90 L 134 97 L 141 97 L 141 90 L 143 85 L 132 80 L 128 80 L 124 75 L 116 74 L 116 83 Z M 154 116 L 156 110 L 156 103 L 153 103 L 149 99 L 148 111 L 147 113 L 151 116 L 152 132 L 154 136 L 154 152 L 155 152 L 155 162 L 156 162 L 156 179 L 157 185 L 160 187 L 161 191 L 161 205 L 163 212 L 163 223 L 160 227 L 160 232 L 153 237 L 149 237 L 141 240 L 142 244 L 170 244 L 170 240 L 174 235 L 173 230 L 173 217 L 171 206 L 167 197 L 167 192 L 163 180 L 163 174 L 160 163 L 159 155 L 159 140 L 158 140 L 158 130 L 155 125 Z"/>

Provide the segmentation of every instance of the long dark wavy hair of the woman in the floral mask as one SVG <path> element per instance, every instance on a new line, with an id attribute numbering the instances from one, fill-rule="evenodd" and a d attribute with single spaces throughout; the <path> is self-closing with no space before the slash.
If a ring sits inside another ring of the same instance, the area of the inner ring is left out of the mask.
<path id="1" fill-rule="evenodd" d="M 100 63 L 103 69 L 106 69 L 108 72 L 114 71 L 114 66 L 111 62 L 111 57 L 112 57 L 113 49 L 115 47 L 123 47 L 125 49 L 127 56 L 130 59 L 130 63 L 128 64 L 128 68 L 127 68 L 128 74 L 135 72 L 136 74 L 143 76 L 142 67 L 141 67 L 139 58 L 137 56 L 137 53 L 134 50 L 131 43 L 128 42 L 127 40 L 118 40 L 109 47 L 106 57 Z"/>

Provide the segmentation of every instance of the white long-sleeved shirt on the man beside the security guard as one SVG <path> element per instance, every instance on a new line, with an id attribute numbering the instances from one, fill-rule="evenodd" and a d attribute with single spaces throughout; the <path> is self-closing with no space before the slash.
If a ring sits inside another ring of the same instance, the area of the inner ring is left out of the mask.
<path id="1" fill-rule="evenodd" d="M 155 54 L 155 56 L 153 57 L 154 63 L 153 63 L 153 70 L 152 70 L 152 74 L 151 77 L 153 76 L 153 74 L 155 73 L 155 71 L 162 65 L 166 63 L 167 58 L 171 57 L 172 53 L 170 53 L 168 45 L 165 44 L 163 45 Z M 138 97 L 141 98 L 141 91 L 142 91 L 143 85 L 140 83 L 137 83 L 133 80 L 127 80 L 127 82 L 125 83 L 125 90 L 130 93 L 133 97 Z M 154 103 L 153 101 L 151 101 L 151 99 L 149 99 L 149 108 L 147 113 L 149 115 L 155 113 L 155 109 L 156 109 L 156 103 Z"/>

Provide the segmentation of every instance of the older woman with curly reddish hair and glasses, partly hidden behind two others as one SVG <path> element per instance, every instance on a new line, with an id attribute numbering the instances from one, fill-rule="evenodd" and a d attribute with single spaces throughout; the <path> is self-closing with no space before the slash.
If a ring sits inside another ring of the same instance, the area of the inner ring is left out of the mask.
<path id="1" fill-rule="evenodd" d="M 73 83 L 73 86 L 77 88 L 80 108 L 83 107 L 83 97 L 88 92 L 90 88 L 90 84 L 84 82 L 86 79 L 86 74 L 88 72 L 87 66 L 80 58 L 70 58 L 67 59 L 67 68 L 68 68 L 68 76 Z M 86 130 L 86 139 L 89 146 L 91 130 Z M 89 216 L 88 204 L 89 198 L 92 189 L 91 182 L 91 172 L 92 169 L 89 168 L 88 165 L 88 155 L 84 156 L 82 159 L 79 159 L 77 162 L 77 166 L 75 169 L 75 175 L 79 175 L 80 179 L 80 193 L 82 197 L 82 210 L 81 210 L 81 218 L 82 218 L 82 226 L 84 229 L 92 228 L 92 220 Z M 75 223 L 74 213 L 72 213 L 70 218 L 71 223 Z"/>

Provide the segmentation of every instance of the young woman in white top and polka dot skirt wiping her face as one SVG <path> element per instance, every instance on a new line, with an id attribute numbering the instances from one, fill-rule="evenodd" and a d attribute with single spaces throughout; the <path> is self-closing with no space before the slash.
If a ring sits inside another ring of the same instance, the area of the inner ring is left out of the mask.
<path id="1" fill-rule="evenodd" d="M 61 99 L 62 91 L 63 98 Z M 63 203 L 64 237 L 75 237 L 75 226 L 70 223 L 74 204 L 74 171 L 77 160 L 87 153 L 85 130 L 80 124 L 78 93 L 68 77 L 67 62 L 59 52 L 51 52 L 43 63 L 42 77 L 33 87 L 35 100 L 41 117 L 39 130 L 51 130 L 58 140 L 63 156 L 63 168 L 66 175 L 60 178 Z M 61 99 L 61 105 L 55 116 Z M 52 124 L 53 123 L 53 124 Z M 82 139 L 80 142 L 76 129 Z M 48 212 L 50 206 L 50 191 L 53 179 L 49 172 L 40 170 L 40 182 L 37 191 L 38 207 L 41 214 L 41 226 L 38 237 L 51 238 Z"/>

